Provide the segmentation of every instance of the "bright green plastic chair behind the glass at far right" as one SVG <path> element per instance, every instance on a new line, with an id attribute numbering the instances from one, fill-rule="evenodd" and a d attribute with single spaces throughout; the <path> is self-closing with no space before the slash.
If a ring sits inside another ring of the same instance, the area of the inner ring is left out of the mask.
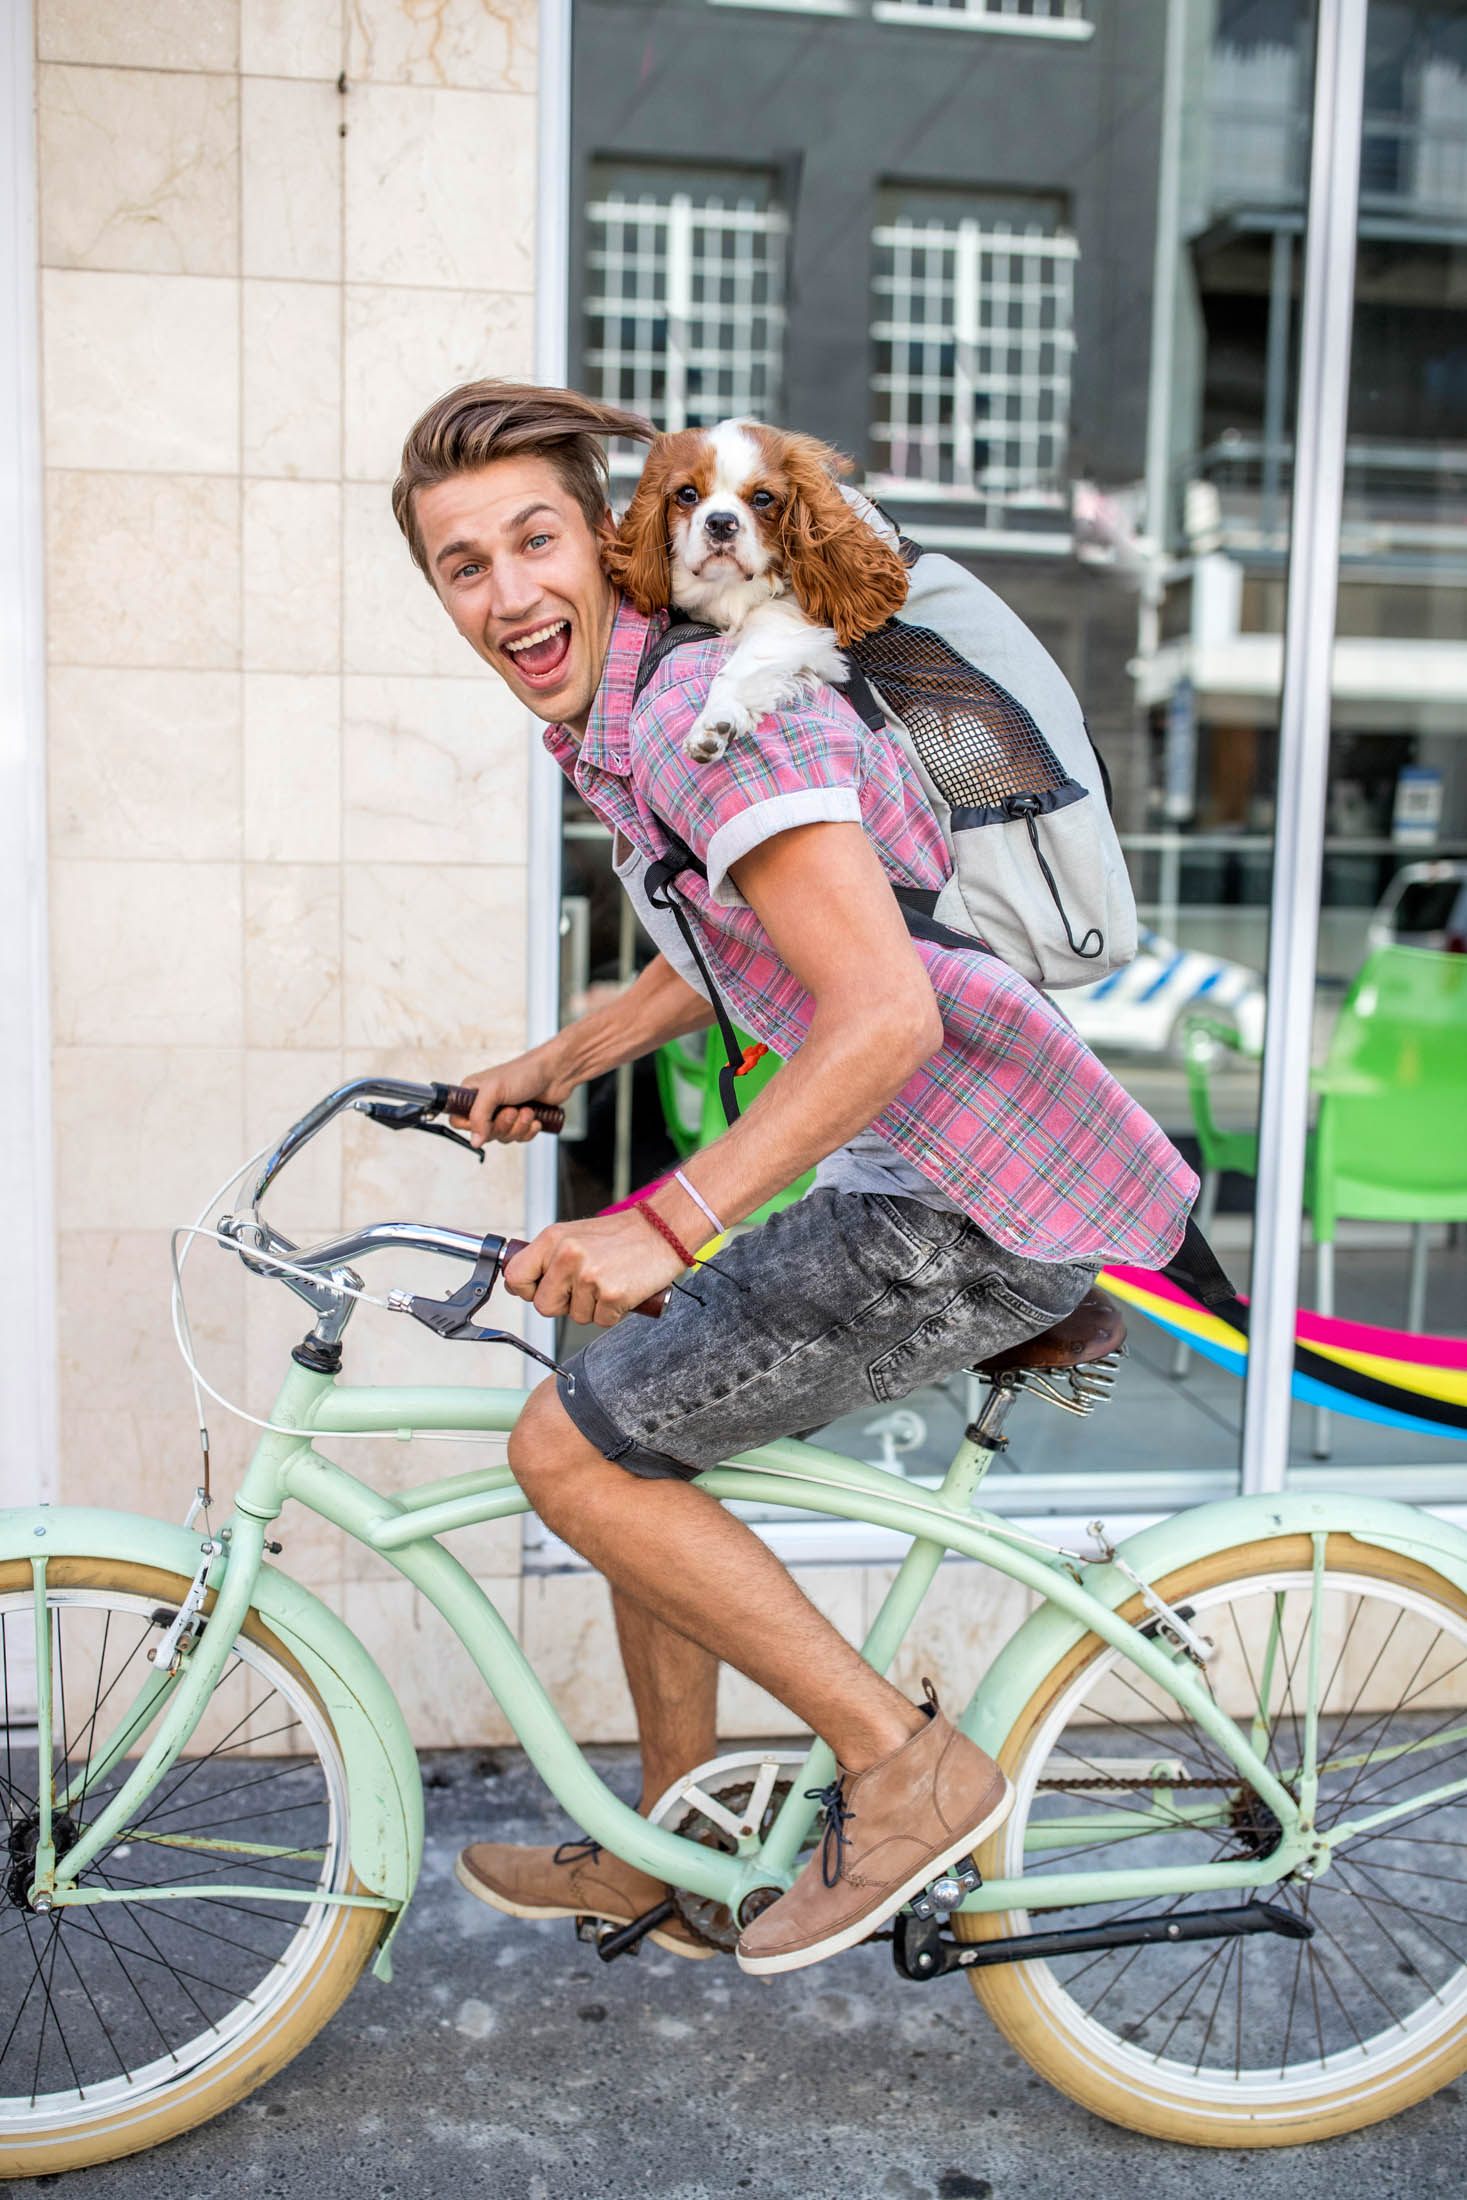
<path id="1" fill-rule="evenodd" d="M 1350 986 L 1313 1078 L 1315 1307 L 1335 1311 L 1335 1225 L 1410 1223 L 1408 1329 L 1425 1327 L 1427 1228 L 1467 1221 L 1467 955 L 1386 946 Z M 1328 1415 L 1315 1412 L 1315 1459 Z"/>

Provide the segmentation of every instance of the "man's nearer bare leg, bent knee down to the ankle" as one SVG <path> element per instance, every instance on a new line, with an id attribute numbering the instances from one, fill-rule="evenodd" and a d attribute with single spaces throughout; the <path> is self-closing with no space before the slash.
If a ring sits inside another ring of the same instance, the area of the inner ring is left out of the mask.
<path id="1" fill-rule="evenodd" d="M 741 1520 L 688 1483 L 611 1465 L 574 1426 L 554 1384 L 541 1384 L 519 1415 L 510 1467 L 541 1520 L 614 1588 L 664 1630 L 768 1687 L 849 1771 L 891 1756 L 922 1727 L 922 1712 L 820 1617 Z M 644 1630 L 642 1643 L 658 1637 Z M 666 1764 L 677 1747 L 673 1723 L 666 1731 L 658 1725 L 655 1690 L 649 1712 L 653 1731 L 642 1731 L 642 1745 L 653 1764 Z M 669 1778 L 686 1769 L 677 1764 Z"/>

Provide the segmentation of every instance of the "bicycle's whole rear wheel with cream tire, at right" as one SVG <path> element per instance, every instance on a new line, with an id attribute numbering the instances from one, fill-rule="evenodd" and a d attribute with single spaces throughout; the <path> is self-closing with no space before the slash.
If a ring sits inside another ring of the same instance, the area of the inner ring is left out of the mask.
<path id="1" fill-rule="evenodd" d="M 1392 2116 L 1467 2068 L 1467 1793 L 1454 1791 L 1467 1775 L 1467 1597 L 1350 1536 L 1328 1538 L 1315 1597 L 1313 1560 L 1309 1536 L 1243 1544 L 1157 1588 L 1214 1646 L 1207 1687 L 1295 1795 L 1313 1648 L 1315 1824 L 1328 1837 L 1394 1815 L 1339 1844 L 1313 1883 L 955 1921 L 979 1940 L 1271 1901 L 1313 1927 L 1306 1940 L 1133 1945 L 972 1973 L 1043 2077 L 1155 2138 L 1298 2145 Z M 1139 1599 L 1124 1615 L 1146 1619 Z M 1018 1800 L 981 1857 L 988 1877 L 1144 1877 L 1267 1859 L 1278 1841 L 1216 1745 L 1095 1635 L 1040 1683 L 1003 1764 Z"/>

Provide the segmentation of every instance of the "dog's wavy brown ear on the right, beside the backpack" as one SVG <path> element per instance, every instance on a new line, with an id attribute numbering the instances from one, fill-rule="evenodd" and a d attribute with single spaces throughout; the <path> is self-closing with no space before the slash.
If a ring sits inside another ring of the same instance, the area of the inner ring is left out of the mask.
<path id="1" fill-rule="evenodd" d="M 906 565 L 840 495 L 836 473 L 849 473 L 849 460 L 838 451 L 790 436 L 783 469 L 792 497 L 781 513 L 781 550 L 794 601 L 834 627 L 840 645 L 856 642 L 906 603 Z"/>

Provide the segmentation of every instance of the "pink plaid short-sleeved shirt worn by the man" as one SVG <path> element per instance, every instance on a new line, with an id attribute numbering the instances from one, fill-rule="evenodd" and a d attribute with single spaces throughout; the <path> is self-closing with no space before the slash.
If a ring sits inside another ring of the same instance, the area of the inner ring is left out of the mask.
<path id="1" fill-rule="evenodd" d="M 658 616 L 655 631 L 664 625 Z M 862 825 L 886 876 L 941 887 L 948 851 L 917 779 L 884 733 L 829 689 L 765 717 L 717 763 L 682 739 L 726 642 L 673 651 L 633 704 L 651 620 L 620 605 L 585 739 L 545 748 L 596 816 L 647 858 L 664 825 L 706 862 L 677 889 L 735 1019 L 781 1056 L 809 1032 L 814 1001 L 783 966 L 730 867 L 792 825 Z M 1010 1252 L 1032 1261 L 1161 1267 L 1196 1197 L 1177 1148 L 1095 1060 L 1060 1010 L 983 948 L 917 942 L 941 1008 L 944 1045 L 871 1126 Z"/>

